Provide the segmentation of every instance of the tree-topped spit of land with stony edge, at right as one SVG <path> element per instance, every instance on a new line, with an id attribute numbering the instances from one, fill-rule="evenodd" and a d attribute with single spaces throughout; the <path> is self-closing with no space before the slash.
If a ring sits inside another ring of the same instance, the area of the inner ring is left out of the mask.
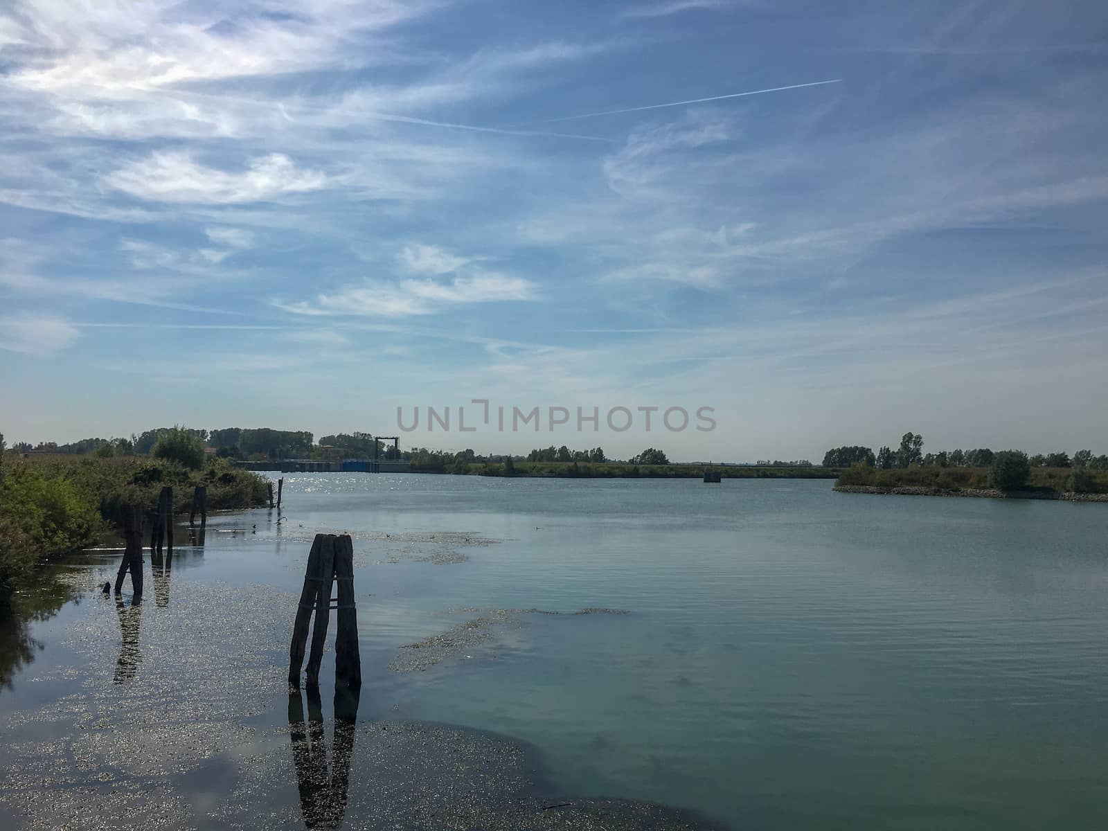
<path id="1" fill-rule="evenodd" d="M 834 448 L 823 464 L 845 468 L 834 484 L 840 493 L 1108 502 L 1108 455 L 1089 450 L 1073 456 L 985 448 L 924 454 L 923 437 L 910 432 L 895 451 Z"/>

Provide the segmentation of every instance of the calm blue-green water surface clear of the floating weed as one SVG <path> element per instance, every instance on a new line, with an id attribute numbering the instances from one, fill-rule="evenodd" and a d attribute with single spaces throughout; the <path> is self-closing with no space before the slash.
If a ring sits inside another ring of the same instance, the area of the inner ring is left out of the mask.
<path id="1" fill-rule="evenodd" d="M 1108 827 L 1104 505 L 330 473 L 285 474 L 284 513 L 215 517 L 166 605 L 147 588 L 143 628 L 208 587 L 298 593 L 311 535 L 351 532 L 362 721 L 503 733 L 557 793 L 736 829 Z M 567 614 L 585 608 L 628 614 Z M 563 614 L 504 614 L 389 671 L 402 645 L 495 609 Z M 88 596 L 33 624 L 43 648 L 6 708 L 94 687 L 65 633 L 109 612 Z M 254 626 L 283 677 L 293 609 L 270 612 Z M 255 722 L 280 722 L 278 704 Z"/>

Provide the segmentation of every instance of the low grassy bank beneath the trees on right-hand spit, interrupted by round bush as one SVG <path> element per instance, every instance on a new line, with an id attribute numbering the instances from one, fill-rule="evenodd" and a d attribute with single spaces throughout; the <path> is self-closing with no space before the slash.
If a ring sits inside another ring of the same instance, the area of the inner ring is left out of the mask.
<path id="1" fill-rule="evenodd" d="M 1073 468 L 1032 468 L 1027 484 L 1020 491 L 1043 494 L 1070 492 L 1108 493 L 1108 472 L 1076 471 Z M 880 470 L 855 464 L 842 472 L 835 486 L 862 485 L 870 488 L 929 488 L 943 491 L 986 490 L 988 468 L 913 466 Z M 1076 485 L 1076 486 L 1075 486 Z"/>

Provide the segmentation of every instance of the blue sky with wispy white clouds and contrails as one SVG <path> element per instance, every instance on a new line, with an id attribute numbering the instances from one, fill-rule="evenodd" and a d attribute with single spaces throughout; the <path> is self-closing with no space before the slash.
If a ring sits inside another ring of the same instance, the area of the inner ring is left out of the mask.
<path id="1" fill-rule="evenodd" d="M 1100 0 L 9 0 L 0 431 L 1108 452 L 1106 44 Z"/>

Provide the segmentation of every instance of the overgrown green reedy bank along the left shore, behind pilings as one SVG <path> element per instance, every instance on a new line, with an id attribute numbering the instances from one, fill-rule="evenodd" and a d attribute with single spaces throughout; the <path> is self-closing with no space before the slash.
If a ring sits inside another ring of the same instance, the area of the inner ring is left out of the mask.
<path id="1" fill-rule="evenodd" d="M 198 484 L 207 486 L 208 510 L 250 507 L 268 499 L 261 476 L 223 460 L 189 470 L 134 456 L 6 454 L 0 466 L 0 613 L 38 564 L 110 534 L 122 521 L 124 505 L 153 513 L 162 486 L 172 485 L 177 512 L 187 512 Z"/>

